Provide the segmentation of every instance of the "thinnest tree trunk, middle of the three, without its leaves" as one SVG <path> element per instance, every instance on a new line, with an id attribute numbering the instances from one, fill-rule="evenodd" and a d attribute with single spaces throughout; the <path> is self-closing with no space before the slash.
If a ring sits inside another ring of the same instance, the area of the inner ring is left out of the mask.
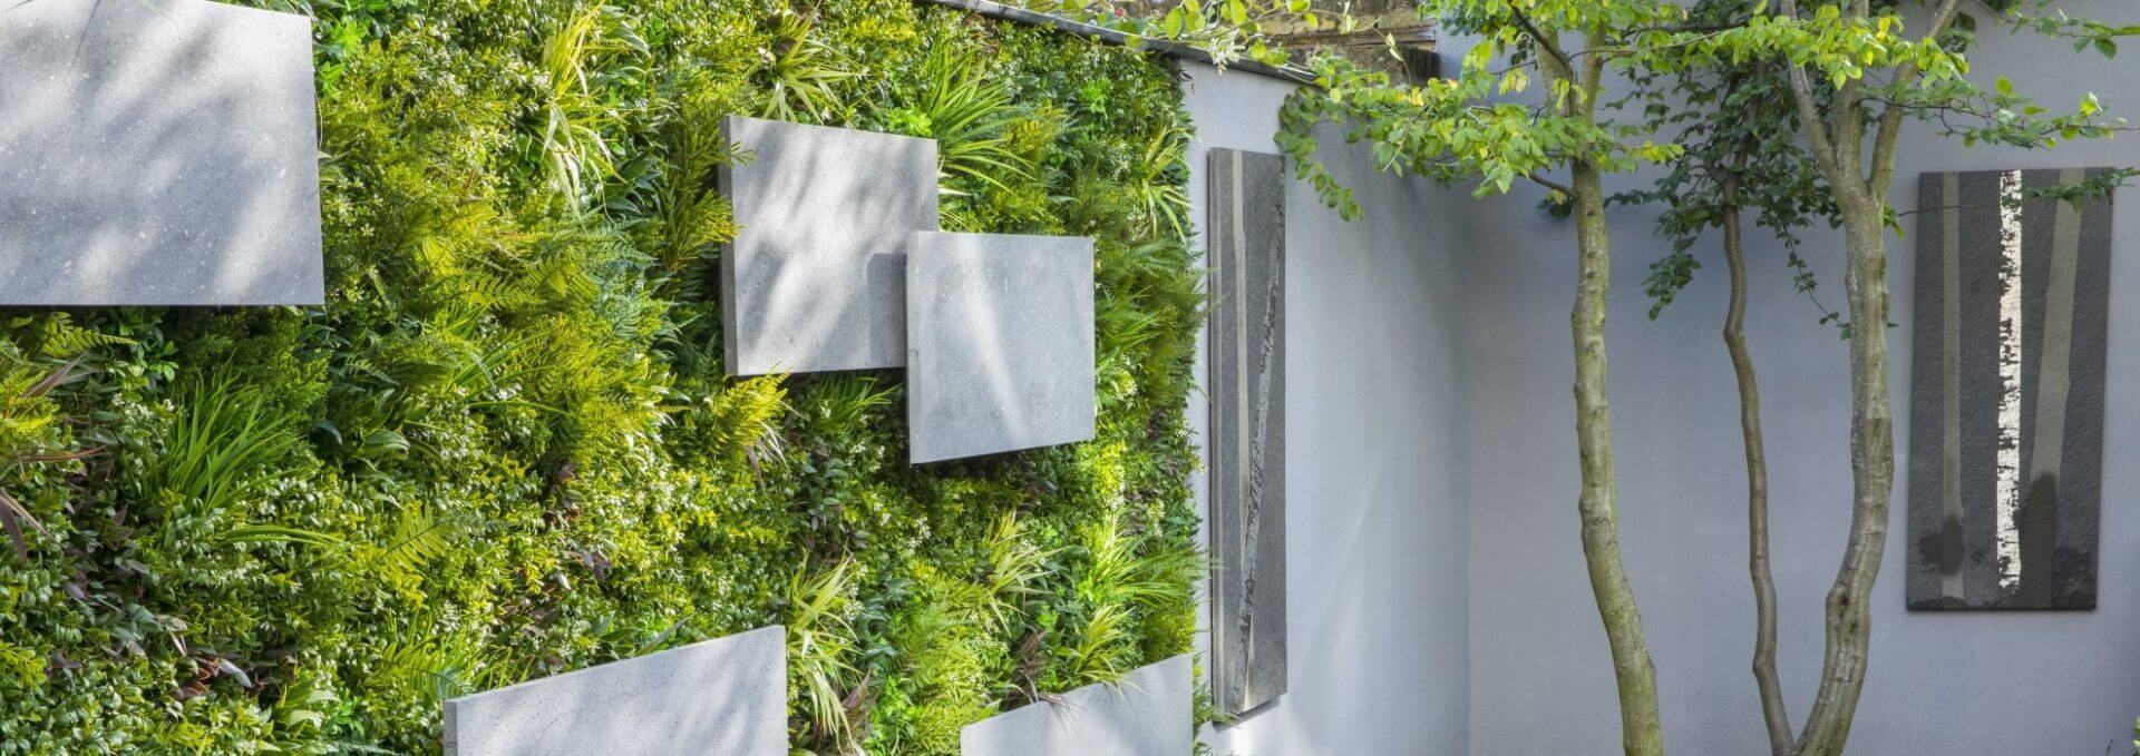
<path id="1" fill-rule="evenodd" d="M 1744 167 L 1744 160 L 1740 160 Z M 1753 350 L 1746 348 L 1746 239 L 1740 209 L 1731 199 L 1738 179 L 1725 182 L 1725 263 L 1731 267 L 1731 305 L 1725 310 L 1725 350 L 1740 387 L 1740 434 L 1746 442 L 1746 568 L 1753 574 L 1753 679 L 1761 690 L 1761 720 L 1768 747 L 1791 756 L 1791 713 L 1776 681 L 1776 574 L 1768 557 L 1768 451 L 1761 436 L 1761 387 L 1755 382 Z"/>

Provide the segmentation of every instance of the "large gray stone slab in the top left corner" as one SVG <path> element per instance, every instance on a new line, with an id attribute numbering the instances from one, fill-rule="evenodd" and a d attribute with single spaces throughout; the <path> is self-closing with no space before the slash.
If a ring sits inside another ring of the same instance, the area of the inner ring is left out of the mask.
<path id="1" fill-rule="evenodd" d="M 0 303 L 321 303 L 312 23 L 0 0 Z"/>

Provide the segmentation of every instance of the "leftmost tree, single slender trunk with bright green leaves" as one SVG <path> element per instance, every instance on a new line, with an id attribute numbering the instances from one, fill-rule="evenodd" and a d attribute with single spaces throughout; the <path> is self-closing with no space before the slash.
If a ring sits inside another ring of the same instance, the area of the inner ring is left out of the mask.
<path id="1" fill-rule="evenodd" d="M 1438 182 L 1477 179 L 1479 194 L 1507 192 L 1524 179 L 1545 186 L 1575 216 L 1577 286 L 1569 327 L 1581 549 L 1611 647 L 1622 745 L 1629 754 L 1663 754 L 1656 671 L 1620 562 L 1605 350 L 1611 284 L 1605 175 L 1669 160 L 1678 149 L 1641 141 L 1639 124 L 1616 124 L 1599 105 L 1614 68 L 1669 53 L 1654 43 L 1671 41 L 1665 30 L 1684 19 L 1684 9 L 1663 0 L 1427 0 L 1421 13 L 1481 38 L 1455 79 L 1393 83 L 1385 73 L 1318 56 L 1318 88 L 1288 98 L 1278 145 L 1348 218 L 1359 207 L 1316 162 L 1312 130 L 1318 124 L 1342 124 L 1352 139 L 1372 143 L 1387 171 Z M 1534 81 L 1545 83 L 1541 96 L 1513 100 Z"/>

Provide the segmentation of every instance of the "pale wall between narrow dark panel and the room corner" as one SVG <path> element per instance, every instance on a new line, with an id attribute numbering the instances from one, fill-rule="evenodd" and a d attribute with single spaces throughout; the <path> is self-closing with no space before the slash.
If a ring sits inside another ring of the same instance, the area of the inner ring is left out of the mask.
<path id="1" fill-rule="evenodd" d="M 1190 203 L 1205 152 L 1278 152 L 1290 85 L 1190 64 Z M 1466 747 L 1464 192 L 1374 175 L 1325 139 L 1367 220 L 1286 192 L 1286 611 L 1290 688 L 1218 754 L 1462 754 Z M 1203 404 L 1190 412 L 1207 427 Z M 1201 495 L 1201 493 L 1198 493 Z"/>

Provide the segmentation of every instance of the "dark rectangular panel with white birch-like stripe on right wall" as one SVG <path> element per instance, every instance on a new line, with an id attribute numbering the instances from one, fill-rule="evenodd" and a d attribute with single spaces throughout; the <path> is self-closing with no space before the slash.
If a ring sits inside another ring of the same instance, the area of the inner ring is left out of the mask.
<path id="1" fill-rule="evenodd" d="M 1909 607 L 2093 609 L 2110 201 L 2091 173 L 1920 179 Z"/>

